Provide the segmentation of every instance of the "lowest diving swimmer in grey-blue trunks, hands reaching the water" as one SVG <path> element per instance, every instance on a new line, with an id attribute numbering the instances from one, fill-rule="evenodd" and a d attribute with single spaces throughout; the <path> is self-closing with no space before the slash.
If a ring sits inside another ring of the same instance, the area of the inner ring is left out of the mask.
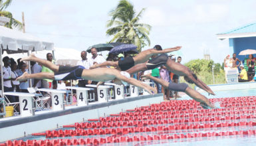
<path id="1" fill-rule="evenodd" d="M 205 96 L 199 94 L 199 92 L 190 88 L 188 86 L 188 84 L 185 84 L 185 83 L 177 84 L 177 83 L 174 83 L 174 82 L 169 83 L 169 82 L 166 82 L 165 80 L 162 80 L 160 78 L 155 78 L 154 76 L 151 76 L 151 74 L 142 75 L 142 80 L 148 79 L 148 78 L 158 82 L 159 84 L 161 84 L 165 88 L 168 88 L 168 90 L 178 91 L 178 92 L 185 92 L 186 94 L 188 94 L 188 96 L 193 98 L 193 100 L 195 100 L 197 102 L 200 102 L 200 105 L 204 109 L 215 108 L 211 104 L 211 102 L 209 102 L 208 98 L 206 98 Z"/>

